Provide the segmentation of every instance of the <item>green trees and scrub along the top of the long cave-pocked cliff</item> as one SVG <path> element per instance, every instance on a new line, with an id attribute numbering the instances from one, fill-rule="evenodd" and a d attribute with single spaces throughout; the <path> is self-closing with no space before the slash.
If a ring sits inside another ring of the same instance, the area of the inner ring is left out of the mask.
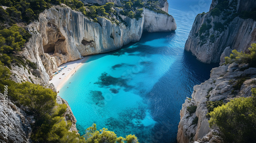
<path id="1" fill-rule="evenodd" d="M 15 23 L 25 26 L 29 22 L 38 19 L 39 14 L 45 9 L 50 8 L 52 5 L 60 5 L 61 3 L 72 9 L 79 10 L 95 22 L 98 21 L 97 17 L 99 16 L 105 17 L 117 25 L 124 22 L 118 16 L 114 3 L 106 3 L 103 6 L 84 6 L 78 0 L 0 0 L 0 4 L 5 6 L 5 9 L 2 6 L 0 7 L 0 60 L 2 63 L 8 65 L 9 68 L 11 68 L 11 63 L 19 65 L 20 62 L 17 61 L 20 60 L 15 60 L 15 55 L 18 51 L 22 50 L 25 42 L 31 37 L 24 28 L 18 27 Z M 120 8 L 121 14 L 136 19 L 142 17 L 143 7 L 165 13 L 161 10 L 158 1 L 142 2 L 141 0 L 132 0 L 124 2 L 123 6 Z"/>

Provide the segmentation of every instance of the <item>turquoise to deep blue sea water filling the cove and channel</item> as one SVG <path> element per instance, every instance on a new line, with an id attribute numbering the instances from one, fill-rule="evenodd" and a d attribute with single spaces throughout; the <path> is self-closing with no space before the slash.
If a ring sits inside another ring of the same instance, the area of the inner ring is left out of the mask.
<path id="1" fill-rule="evenodd" d="M 195 16 L 207 12 L 210 1 L 168 2 L 175 32 L 143 33 L 139 42 L 89 56 L 60 90 L 81 134 L 96 123 L 117 136 L 135 134 L 141 143 L 177 142 L 182 104 L 218 64 L 184 51 Z"/>

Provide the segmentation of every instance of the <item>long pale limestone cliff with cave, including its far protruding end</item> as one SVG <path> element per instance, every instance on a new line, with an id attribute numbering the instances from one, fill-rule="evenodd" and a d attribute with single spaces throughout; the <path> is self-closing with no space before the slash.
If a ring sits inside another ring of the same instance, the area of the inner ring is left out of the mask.
<path id="1" fill-rule="evenodd" d="M 119 9 L 116 8 L 118 11 Z M 32 52 L 34 62 L 40 67 L 47 81 L 57 67 L 81 56 L 99 54 L 119 49 L 123 45 L 139 41 L 143 30 L 148 32 L 176 30 L 173 16 L 144 9 L 138 20 L 119 15 L 124 23 L 97 17 L 98 22 L 73 11 L 66 6 L 56 6 L 39 15 L 39 21 L 28 26 L 32 38 L 24 50 L 25 56 Z M 116 18 L 119 18 L 116 17 Z M 34 44 L 33 46 L 30 46 Z M 44 65 L 45 69 L 41 69 Z"/>

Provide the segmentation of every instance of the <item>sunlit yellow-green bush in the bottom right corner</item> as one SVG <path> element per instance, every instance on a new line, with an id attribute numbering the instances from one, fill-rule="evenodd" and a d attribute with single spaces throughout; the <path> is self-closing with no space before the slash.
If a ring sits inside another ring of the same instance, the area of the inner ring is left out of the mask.
<path id="1" fill-rule="evenodd" d="M 252 97 L 237 98 L 210 112 L 210 127 L 218 127 L 225 142 L 256 140 L 256 88 Z"/>

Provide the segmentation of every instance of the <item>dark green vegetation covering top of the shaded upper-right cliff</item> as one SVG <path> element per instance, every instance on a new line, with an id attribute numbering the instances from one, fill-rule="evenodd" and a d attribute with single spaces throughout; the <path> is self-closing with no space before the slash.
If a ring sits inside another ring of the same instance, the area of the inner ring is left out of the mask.
<path id="1" fill-rule="evenodd" d="M 228 29 L 230 22 L 232 22 L 236 17 L 256 20 L 256 9 L 253 9 L 252 11 L 238 11 L 239 5 L 237 0 L 218 0 L 217 2 L 217 5 L 207 13 L 210 16 L 205 17 L 206 20 L 201 24 L 199 32 L 195 34 L 196 37 L 199 36 L 200 38 L 200 41 L 198 42 L 198 45 L 200 44 L 200 46 L 206 44 L 207 41 L 209 41 L 209 43 L 214 43 L 215 39 L 220 37 L 220 34 L 225 29 Z M 206 13 L 203 12 L 197 16 L 202 17 L 205 14 Z M 212 20 L 217 21 L 212 22 Z M 196 25 L 197 24 L 198 22 Z M 214 31 L 210 31 L 212 28 Z"/>

